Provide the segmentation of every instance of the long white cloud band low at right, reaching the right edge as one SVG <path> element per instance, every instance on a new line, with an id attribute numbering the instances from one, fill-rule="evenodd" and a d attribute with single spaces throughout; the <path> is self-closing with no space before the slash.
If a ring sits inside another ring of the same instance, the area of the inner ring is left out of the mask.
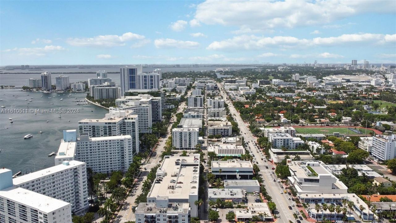
<path id="1" fill-rule="evenodd" d="M 316 37 L 313 39 L 299 39 L 296 37 L 276 36 L 259 37 L 255 35 L 235 36 L 221 41 L 214 41 L 207 49 L 230 50 L 230 49 L 261 49 L 269 46 L 280 46 L 281 48 L 310 47 L 310 46 L 333 46 L 350 43 L 372 43 L 383 44 L 396 41 L 396 35 L 383 34 L 344 34 L 338 37 Z"/>

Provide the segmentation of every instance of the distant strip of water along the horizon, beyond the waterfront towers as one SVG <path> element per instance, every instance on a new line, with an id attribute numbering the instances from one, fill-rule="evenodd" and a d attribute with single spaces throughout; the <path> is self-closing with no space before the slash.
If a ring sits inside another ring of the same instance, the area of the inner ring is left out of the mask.
<path id="1" fill-rule="evenodd" d="M 232 67 L 232 66 L 223 66 L 230 67 L 232 69 L 246 69 L 246 68 L 255 68 L 254 66 L 244 66 L 244 67 Z M 160 68 L 162 73 L 173 71 L 173 72 L 181 72 L 181 71 L 213 71 L 219 67 L 143 67 L 143 71 L 152 71 L 153 69 Z M 70 83 L 78 82 L 78 81 L 88 81 L 88 78 L 95 78 L 96 73 L 78 73 L 78 72 L 97 72 L 99 70 L 105 70 L 107 72 L 119 72 L 119 67 L 98 67 L 98 68 L 49 68 L 43 69 L 41 71 L 28 71 L 21 69 L 14 70 L 2 70 L 7 73 L 0 73 L 0 85 L 10 86 L 13 85 L 15 87 L 22 87 L 26 85 L 26 80 L 29 78 L 40 79 L 40 73 L 43 72 L 51 72 L 52 83 L 55 84 L 55 77 L 60 75 L 60 73 L 65 73 L 65 75 L 69 76 Z M 23 73 L 20 73 L 23 72 Z M 32 73 L 28 73 L 32 72 Z M 118 73 L 108 73 L 107 77 L 110 77 L 112 81 L 116 84 L 120 84 L 120 75 Z"/>

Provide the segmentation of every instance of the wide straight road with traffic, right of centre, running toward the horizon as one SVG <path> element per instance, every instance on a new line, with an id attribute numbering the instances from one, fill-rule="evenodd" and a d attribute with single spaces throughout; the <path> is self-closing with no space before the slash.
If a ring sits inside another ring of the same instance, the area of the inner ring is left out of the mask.
<path id="1" fill-rule="evenodd" d="M 221 85 L 220 87 L 220 92 L 223 98 L 225 98 L 226 103 L 228 104 L 228 108 L 230 110 L 230 113 L 233 115 L 234 120 L 236 123 L 238 123 L 238 127 L 241 131 L 242 136 L 244 137 L 244 142 L 247 143 L 249 146 L 249 149 L 251 150 L 251 154 L 253 155 L 256 160 L 254 163 L 258 165 L 260 168 L 260 173 L 262 174 L 265 188 L 267 189 L 268 194 L 272 197 L 272 201 L 276 204 L 276 215 L 278 218 L 280 218 L 278 221 L 280 222 L 287 222 L 288 220 L 295 222 L 295 219 L 293 217 L 293 213 L 297 211 L 296 207 L 292 207 L 292 210 L 289 210 L 288 206 L 290 206 L 291 200 L 287 199 L 287 194 L 280 194 L 280 190 L 284 190 L 280 186 L 282 185 L 281 183 L 278 183 L 277 181 L 273 181 L 273 179 L 276 179 L 276 175 L 272 174 L 272 167 L 275 167 L 271 163 L 268 163 L 266 161 L 265 155 L 263 152 L 255 145 L 255 142 L 257 142 L 257 138 L 251 134 L 251 131 L 249 128 L 247 128 L 246 124 L 242 121 L 240 114 L 236 111 L 234 105 L 230 101 L 229 97 L 227 96 L 227 93 L 224 89 L 224 87 Z M 265 166 L 268 166 L 268 169 L 265 168 Z M 303 221 L 302 221 L 303 222 Z M 304 221 L 307 222 L 307 221 Z"/>

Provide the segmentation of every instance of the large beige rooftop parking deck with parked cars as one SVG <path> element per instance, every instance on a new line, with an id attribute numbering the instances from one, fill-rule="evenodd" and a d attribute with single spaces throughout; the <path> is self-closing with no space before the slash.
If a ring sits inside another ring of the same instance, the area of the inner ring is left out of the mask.
<path id="1" fill-rule="evenodd" d="M 160 183 L 152 185 L 147 197 L 168 196 L 169 199 L 188 199 L 190 194 L 198 195 L 199 158 L 199 154 L 182 157 L 165 156 L 160 167 L 160 170 L 164 171 L 165 175 Z M 176 165 L 175 162 L 180 162 L 181 165 Z M 182 168 L 182 166 L 185 167 Z M 196 172 L 194 172 L 194 167 L 198 167 Z M 175 180 L 176 183 L 170 183 L 171 180 Z M 196 183 L 192 183 L 192 181 Z M 174 188 L 171 188 L 172 186 Z M 178 188 L 178 186 L 180 187 Z"/>

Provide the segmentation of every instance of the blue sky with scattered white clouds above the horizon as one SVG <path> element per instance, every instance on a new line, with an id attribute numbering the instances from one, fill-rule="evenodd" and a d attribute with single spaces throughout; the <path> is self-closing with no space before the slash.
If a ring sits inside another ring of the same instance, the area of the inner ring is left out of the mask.
<path id="1" fill-rule="evenodd" d="M 396 63 L 396 1 L 1 1 L 0 65 Z"/>

